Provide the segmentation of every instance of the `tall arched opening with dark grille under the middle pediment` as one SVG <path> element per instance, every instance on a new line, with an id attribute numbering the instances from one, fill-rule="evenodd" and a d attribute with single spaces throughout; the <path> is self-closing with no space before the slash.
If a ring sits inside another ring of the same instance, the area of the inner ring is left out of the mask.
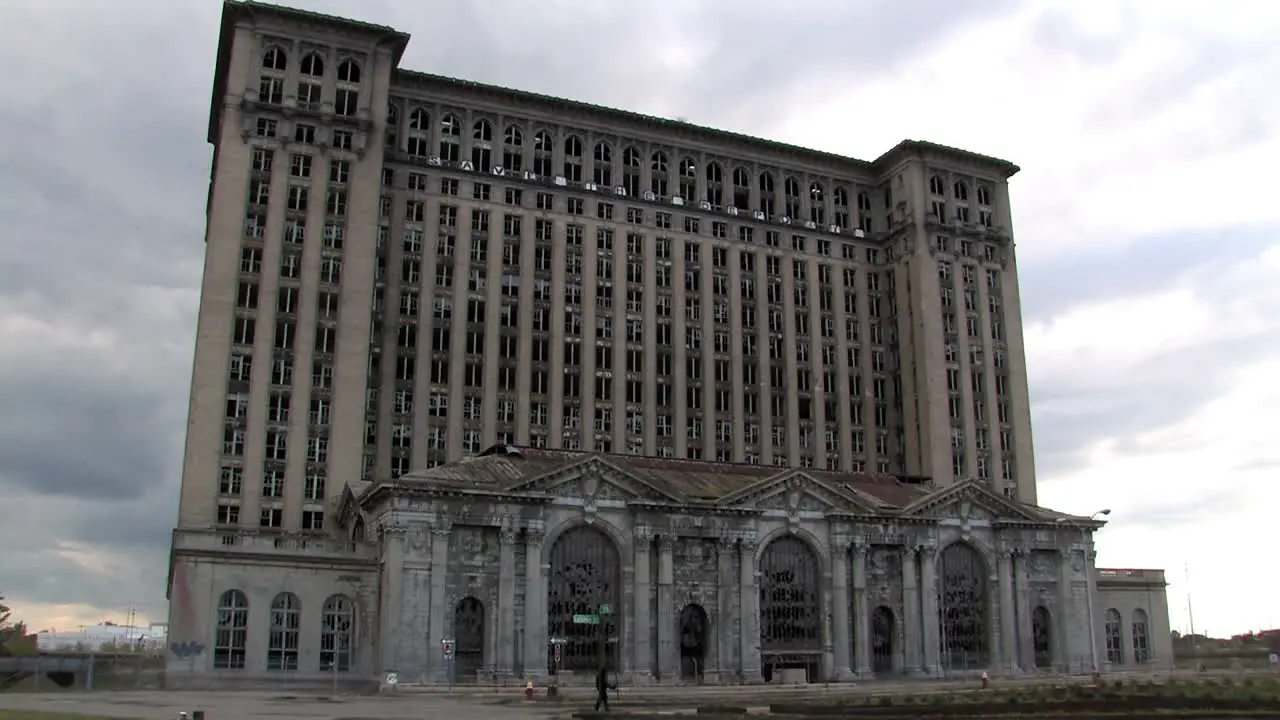
<path id="1" fill-rule="evenodd" d="M 797 537 L 778 538 L 760 556 L 760 665 L 803 669 L 818 682 L 822 660 L 822 588 L 818 556 Z"/>

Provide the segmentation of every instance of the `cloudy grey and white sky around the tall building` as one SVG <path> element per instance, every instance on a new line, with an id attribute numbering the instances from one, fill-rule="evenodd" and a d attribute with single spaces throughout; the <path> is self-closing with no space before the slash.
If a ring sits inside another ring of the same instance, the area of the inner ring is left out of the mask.
<path id="1" fill-rule="evenodd" d="M 1021 165 L 1041 503 L 1110 509 L 1100 565 L 1166 569 L 1176 629 L 1188 596 L 1198 632 L 1280 624 L 1280 4 L 292 3 L 413 69 Z M 219 12 L 0 3 L 0 594 L 36 628 L 165 619 Z"/>

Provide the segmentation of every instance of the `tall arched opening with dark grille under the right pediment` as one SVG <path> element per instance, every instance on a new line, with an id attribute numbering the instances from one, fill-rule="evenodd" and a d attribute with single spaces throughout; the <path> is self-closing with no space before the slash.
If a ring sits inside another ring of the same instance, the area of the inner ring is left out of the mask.
<path id="1" fill-rule="evenodd" d="M 957 542 L 938 557 L 938 577 L 942 666 L 987 667 L 991 664 L 987 564 L 977 550 Z"/>

